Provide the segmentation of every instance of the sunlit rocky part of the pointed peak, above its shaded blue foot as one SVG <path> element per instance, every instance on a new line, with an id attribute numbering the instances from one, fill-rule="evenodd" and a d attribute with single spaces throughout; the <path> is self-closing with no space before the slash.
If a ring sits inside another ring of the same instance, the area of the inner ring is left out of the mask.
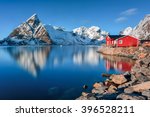
<path id="1" fill-rule="evenodd" d="M 38 18 L 37 14 L 32 15 L 24 23 L 20 24 L 15 28 L 7 40 L 18 39 L 18 40 L 33 40 L 38 39 L 38 41 L 51 44 L 51 38 L 45 29 L 44 25 Z"/>

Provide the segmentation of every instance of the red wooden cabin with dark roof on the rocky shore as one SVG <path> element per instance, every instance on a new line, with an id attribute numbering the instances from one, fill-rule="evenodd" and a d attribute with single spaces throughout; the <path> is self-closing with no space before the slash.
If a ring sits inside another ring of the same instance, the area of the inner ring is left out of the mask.
<path id="1" fill-rule="evenodd" d="M 138 46 L 139 40 L 129 35 L 108 35 L 106 37 L 106 45 L 116 47 Z"/>

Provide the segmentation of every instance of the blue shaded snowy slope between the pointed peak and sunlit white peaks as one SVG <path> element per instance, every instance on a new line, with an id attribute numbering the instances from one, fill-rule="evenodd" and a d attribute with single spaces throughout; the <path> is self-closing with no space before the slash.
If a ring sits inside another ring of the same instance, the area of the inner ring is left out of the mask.
<path id="1" fill-rule="evenodd" d="M 88 37 L 84 37 L 82 35 L 78 35 L 73 32 L 57 30 L 51 25 L 45 25 L 46 30 L 51 36 L 52 43 L 58 45 L 72 45 L 72 44 L 98 44 L 98 40 L 92 40 Z"/>

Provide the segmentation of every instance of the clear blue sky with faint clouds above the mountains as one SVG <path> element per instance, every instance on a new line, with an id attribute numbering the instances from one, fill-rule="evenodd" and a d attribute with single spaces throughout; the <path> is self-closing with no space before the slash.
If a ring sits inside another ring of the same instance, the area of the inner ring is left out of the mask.
<path id="1" fill-rule="evenodd" d="M 111 34 L 150 14 L 150 0 L 0 0 L 0 38 L 37 13 L 44 24 L 72 30 L 99 26 Z"/>

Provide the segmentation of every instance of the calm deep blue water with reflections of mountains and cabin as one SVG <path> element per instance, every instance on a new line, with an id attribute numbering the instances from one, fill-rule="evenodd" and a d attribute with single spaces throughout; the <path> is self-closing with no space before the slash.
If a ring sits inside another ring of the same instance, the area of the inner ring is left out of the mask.
<path id="1" fill-rule="evenodd" d="M 76 99 L 102 73 L 129 71 L 134 62 L 104 56 L 98 46 L 0 47 L 0 99 Z"/>

